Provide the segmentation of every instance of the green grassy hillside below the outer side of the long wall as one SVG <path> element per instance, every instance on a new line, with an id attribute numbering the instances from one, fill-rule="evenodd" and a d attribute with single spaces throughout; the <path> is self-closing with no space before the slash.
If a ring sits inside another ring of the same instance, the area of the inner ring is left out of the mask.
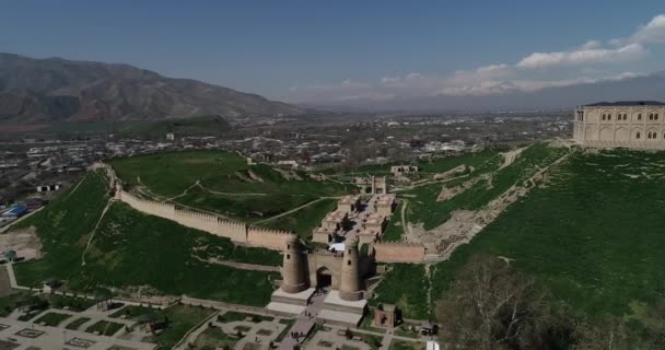
<path id="1" fill-rule="evenodd" d="M 104 178 L 89 174 L 79 189 L 65 195 L 21 222 L 35 225 L 47 253 L 40 260 L 15 265 L 22 285 L 39 287 L 57 278 L 75 291 L 98 285 L 151 285 L 163 293 L 264 306 L 277 273 L 240 270 L 209 259 L 279 265 L 279 253 L 235 247 L 217 237 L 172 221 L 144 215 L 114 203 L 100 223 L 88 253 L 81 257 L 96 218 L 106 202 Z M 77 220 L 78 218 L 78 220 Z M 67 225 L 71 230 L 65 230 Z"/>

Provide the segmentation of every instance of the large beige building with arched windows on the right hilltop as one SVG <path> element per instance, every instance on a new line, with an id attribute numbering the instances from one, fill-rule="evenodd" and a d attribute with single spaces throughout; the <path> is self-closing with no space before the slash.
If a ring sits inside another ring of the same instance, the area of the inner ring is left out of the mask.
<path id="1" fill-rule="evenodd" d="M 587 147 L 665 149 L 665 103 L 596 103 L 575 108 L 573 140 Z"/>

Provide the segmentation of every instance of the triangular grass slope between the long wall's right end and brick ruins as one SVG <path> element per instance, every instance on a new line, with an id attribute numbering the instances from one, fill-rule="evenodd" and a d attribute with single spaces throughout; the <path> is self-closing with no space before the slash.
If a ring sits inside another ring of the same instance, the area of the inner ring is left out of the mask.
<path id="1" fill-rule="evenodd" d="M 269 229 L 280 229 L 295 232 L 304 238 L 310 238 L 326 214 L 337 208 L 337 200 L 322 199 L 291 214 L 269 220 L 259 224 Z"/>

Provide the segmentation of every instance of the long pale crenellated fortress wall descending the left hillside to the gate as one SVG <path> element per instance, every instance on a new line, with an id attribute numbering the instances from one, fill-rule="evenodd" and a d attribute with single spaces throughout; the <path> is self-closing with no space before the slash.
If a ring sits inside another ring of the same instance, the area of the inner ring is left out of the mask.
<path id="1" fill-rule="evenodd" d="M 141 199 L 124 190 L 119 185 L 116 185 L 116 199 L 147 214 L 175 221 L 183 226 L 231 238 L 233 242 L 248 246 L 283 250 L 287 237 L 290 235 L 287 231 L 249 228 L 243 222 L 224 220 L 213 214 L 183 210 L 172 203 Z"/>

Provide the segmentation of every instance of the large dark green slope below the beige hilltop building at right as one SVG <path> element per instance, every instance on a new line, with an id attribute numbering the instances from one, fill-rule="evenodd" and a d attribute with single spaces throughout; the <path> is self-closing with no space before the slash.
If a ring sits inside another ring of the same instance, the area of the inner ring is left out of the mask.
<path id="1" fill-rule="evenodd" d="M 665 298 L 665 152 L 581 152 L 434 269 L 433 293 L 472 255 L 494 255 L 592 317 Z"/>

